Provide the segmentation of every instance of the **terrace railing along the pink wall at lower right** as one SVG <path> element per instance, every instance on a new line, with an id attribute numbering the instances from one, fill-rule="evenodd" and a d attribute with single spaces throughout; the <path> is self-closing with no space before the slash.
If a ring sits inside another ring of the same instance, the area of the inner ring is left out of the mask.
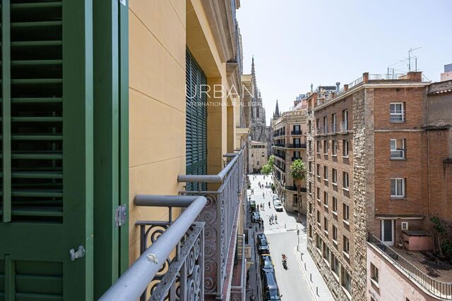
<path id="1" fill-rule="evenodd" d="M 417 269 L 416 266 L 400 256 L 400 254 L 379 240 L 379 238 L 371 235 L 371 233 L 368 233 L 367 237 L 369 243 L 374 245 L 378 250 L 381 250 L 390 262 L 403 269 L 412 281 L 417 282 L 422 288 L 428 290 L 432 295 L 439 297 L 441 300 L 452 300 L 452 283 L 436 281 L 432 277 L 424 274 L 420 269 Z"/>

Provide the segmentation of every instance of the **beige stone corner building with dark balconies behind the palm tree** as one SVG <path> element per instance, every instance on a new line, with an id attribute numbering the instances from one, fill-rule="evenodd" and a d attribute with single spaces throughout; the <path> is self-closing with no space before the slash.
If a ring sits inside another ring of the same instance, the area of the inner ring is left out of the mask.
<path id="1" fill-rule="evenodd" d="M 295 214 L 306 214 L 307 208 L 306 181 L 302 183 L 299 199 L 297 186 L 290 175 L 290 166 L 296 159 L 307 164 L 306 114 L 306 109 L 287 111 L 272 120 L 275 192 L 283 200 L 285 210 Z"/>

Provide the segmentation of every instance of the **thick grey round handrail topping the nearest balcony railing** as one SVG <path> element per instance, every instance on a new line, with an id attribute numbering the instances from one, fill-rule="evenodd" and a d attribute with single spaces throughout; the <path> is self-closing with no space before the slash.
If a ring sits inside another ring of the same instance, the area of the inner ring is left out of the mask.
<path id="1" fill-rule="evenodd" d="M 207 199 L 203 196 L 138 195 L 135 202 L 138 206 L 172 206 L 186 209 L 100 297 L 100 300 L 138 300 L 206 206 Z"/>

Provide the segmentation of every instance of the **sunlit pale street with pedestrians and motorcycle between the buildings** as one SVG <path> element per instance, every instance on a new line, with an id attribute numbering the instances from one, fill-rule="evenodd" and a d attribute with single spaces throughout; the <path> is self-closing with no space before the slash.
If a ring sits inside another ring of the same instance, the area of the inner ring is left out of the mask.
<path id="1" fill-rule="evenodd" d="M 268 243 L 270 245 L 270 254 L 275 265 L 275 276 L 278 281 L 280 294 L 283 295 L 282 300 L 287 301 L 304 301 L 316 300 L 309 288 L 307 278 L 302 271 L 302 264 L 297 259 L 297 227 L 300 233 L 304 233 L 304 226 L 297 223 L 295 216 L 290 216 L 284 211 L 277 212 L 273 208 L 273 193 L 270 189 L 271 176 L 250 175 L 251 190 L 254 193 L 251 196 L 251 201 L 256 202 L 256 206 L 264 204 L 264 210 L 259 210 L 263 219 L 263 233 L 266 234 Z M 263 189 L 259 188 L 259 183 L 263 184 Z M 270 202 L 270 208 L 268 207 Z M 278 222 L 270 224 L 269 216 L 271 214 L 278 216 Z M 262 231 L 262 230 L 261 230 Z M 300 243 L 302 242 L 300 238 Z M 306 240 L 304 239 L 304 243 Z M 287 256 L 287 267 L 283 268 L 282 254 Z"/>

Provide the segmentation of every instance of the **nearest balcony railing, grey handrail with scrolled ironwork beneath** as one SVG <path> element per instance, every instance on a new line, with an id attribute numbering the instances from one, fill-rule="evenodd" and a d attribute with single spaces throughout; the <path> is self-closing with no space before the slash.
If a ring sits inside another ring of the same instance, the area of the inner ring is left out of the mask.
<path id="1" fill-rule="evenodd" d="M 137 206 L 168 207 L 169 220 L 136 223 L 141 255 L 100 300 L 147 300 L 148 293 L 149 300 L 203 300 L 204 222 L 195 219 L 206 203 L 202 196 L 138 195 Z M 172 207 L 186 207 L 174 222 Z"/>

